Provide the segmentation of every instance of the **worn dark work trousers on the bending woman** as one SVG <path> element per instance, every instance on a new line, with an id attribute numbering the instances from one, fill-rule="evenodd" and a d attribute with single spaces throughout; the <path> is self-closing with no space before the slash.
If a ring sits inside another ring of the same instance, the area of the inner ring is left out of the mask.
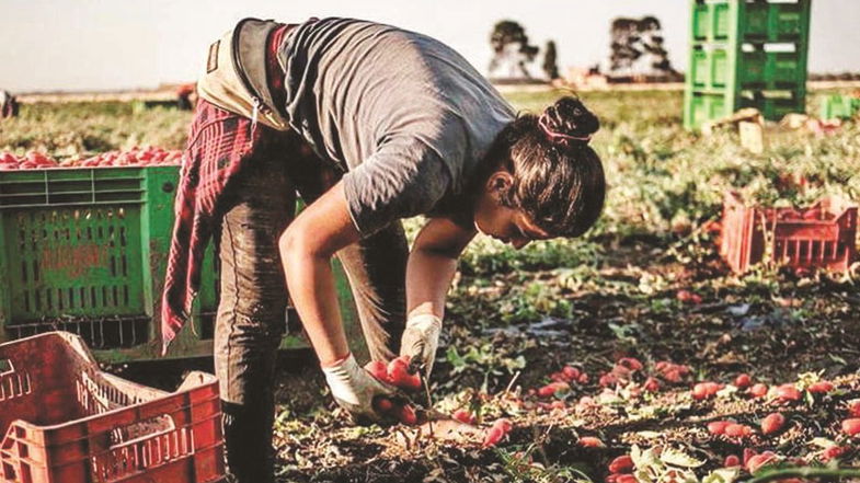
<path id="1" fill-rule="evenodd" d="M 241 483 L 273 478 L 275 355 L 286 329 L 287 288 L 278 238 L 296 193 L 313 203 L 337 181 L 295 133 L 266 131 L 225 192 L 215 371 L 220 381 L 229 470 Z M 400 345 L 408 246 L 399 222 L 337 253 L 374 359 Z M 287 267 L 289 269 L 289 267 Z"/>

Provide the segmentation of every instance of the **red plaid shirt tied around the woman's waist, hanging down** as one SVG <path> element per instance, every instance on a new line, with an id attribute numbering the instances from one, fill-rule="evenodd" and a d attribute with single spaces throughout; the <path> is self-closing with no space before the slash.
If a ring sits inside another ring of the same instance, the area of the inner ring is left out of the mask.
<path id="1" fill-rule="evenodd" d="M 275 93 L 284 90 L 276 53 L 287 31 L 287 25 L 279 27 L 268 42 L 266 70 Z M 263 129 L 267 128 L 204 100 L 197 103 L 174 203 L 176 219 L 161 300 L 162 355 L 187 321 L 199 290 L 203 255 L 223 215 L 219 202 L 225 187 L 250 158 Z"/>

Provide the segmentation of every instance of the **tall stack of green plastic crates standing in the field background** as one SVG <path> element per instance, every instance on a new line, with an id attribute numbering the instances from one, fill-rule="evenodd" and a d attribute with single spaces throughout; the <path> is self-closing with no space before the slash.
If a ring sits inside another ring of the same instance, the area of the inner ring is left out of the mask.
<path id="1" fill-rule="evenodd" d="M 684 126 L 755 107 L 804 112 L 812 0 L 691 0 Z"/>

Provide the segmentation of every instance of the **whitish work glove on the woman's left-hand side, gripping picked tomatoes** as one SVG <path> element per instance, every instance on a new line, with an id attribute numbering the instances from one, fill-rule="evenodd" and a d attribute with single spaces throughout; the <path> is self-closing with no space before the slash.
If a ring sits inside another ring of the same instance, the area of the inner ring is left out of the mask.
<path id="1" fill-rule="evenodd" d="M 374 410 L 374 398 L 397 393 L 394 387 L 378 381 L 362 368 L 352 354 L 334 366 L 323 367 L 322 371 L 334 400 L 359 424 L 381 419 Z"/>

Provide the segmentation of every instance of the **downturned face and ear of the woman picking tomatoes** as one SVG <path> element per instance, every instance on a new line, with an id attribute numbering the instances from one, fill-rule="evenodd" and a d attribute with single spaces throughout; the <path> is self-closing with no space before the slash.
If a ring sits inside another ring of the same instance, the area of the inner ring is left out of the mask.
<path id="1" fill-rule="evenodd" d="M 519 250 L 532 240 L 551 238 L 537 227 L 521 209 L 502 204 L 501 194 L 511 186 L 513 177 L 507 171 L 493 173 L 484 185 L 474 209 L 474 227 L 483 234 L 509 243 Z"/>

